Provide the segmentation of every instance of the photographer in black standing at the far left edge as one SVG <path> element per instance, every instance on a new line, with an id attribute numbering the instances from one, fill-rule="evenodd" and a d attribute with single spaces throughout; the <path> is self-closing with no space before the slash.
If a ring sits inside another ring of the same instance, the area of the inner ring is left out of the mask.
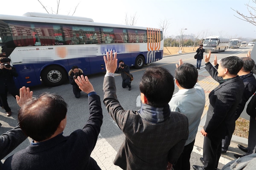
<path id="1" fill-rule="evenodd" d="M 15 86 L 13 77 L 18 77 L 18 73 L 14 66 L 10 65 L 11 59 L 8 57 L 0 58 L 0 99 L 7 116 L 12 115 L 11 108 L 7 102 L 8 92 L 14 96 L 19 95 L 18 89 Z"/>

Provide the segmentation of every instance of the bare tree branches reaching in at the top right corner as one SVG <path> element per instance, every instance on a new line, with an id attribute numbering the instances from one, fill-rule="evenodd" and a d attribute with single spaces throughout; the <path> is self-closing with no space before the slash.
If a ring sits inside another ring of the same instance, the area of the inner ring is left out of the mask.
<path id="1" fill-rule="evenodd" d="M 250 1 L 249 1 L 250 2 Z M 252 0 L 253 3 L 255 3 L 256 5 L 256 0 Z M 237 17 L 236 15 L 234 15 L 236 18 L 239 18 L 240 20 L 243 20 L 243 21 L 247 21 L 251 24 L 253 24 L 254 26 L 256 26 L 256 8 L 249 5 L 248 4 L 245 4 L 245 6 L 247 6 L 247 10 L 249 12 L 249 15 L 245 15 L 245 14 L 242 14 L 240 13 L 238 10 L 235 10 L 235 9 L 232 9 L 233 11 L 235 11 L 238 15 L 240 15 L 239 17 Z"/>

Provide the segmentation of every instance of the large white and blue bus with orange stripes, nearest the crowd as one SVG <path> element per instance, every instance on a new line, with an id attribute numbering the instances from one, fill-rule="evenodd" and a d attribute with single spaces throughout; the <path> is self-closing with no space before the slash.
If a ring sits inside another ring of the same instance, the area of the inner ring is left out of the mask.
<path id="1" fill-rule="evenodd" d="M 0 15 L 0 43 L 18 71 L 18 87 L 59 86 L 74 65 L 85 75 L 104 72 L 110 50 L 136 69 L 163 58 L 161 29 L 35 12 Z"/>

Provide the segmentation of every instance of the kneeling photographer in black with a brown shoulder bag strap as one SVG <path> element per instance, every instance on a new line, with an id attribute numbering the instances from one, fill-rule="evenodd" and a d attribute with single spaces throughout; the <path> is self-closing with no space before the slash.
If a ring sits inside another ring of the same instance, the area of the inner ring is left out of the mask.
<path id="1" fill-rule="evenodd" d="M 131 90 L 131 74 L 130 74 L 130 67 L 126 65 L 123 60 L 119 61 L 119 66 L 117 71 L 121 73 L 121 77 L 123 79 L 122 87 L 125 88 L 126 86 L 129 87 L 129 91 Z"/>

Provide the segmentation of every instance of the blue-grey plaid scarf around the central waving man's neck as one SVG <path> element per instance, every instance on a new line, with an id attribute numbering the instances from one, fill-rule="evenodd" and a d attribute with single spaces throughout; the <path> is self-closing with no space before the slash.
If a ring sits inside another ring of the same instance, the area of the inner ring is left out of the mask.
<path id="1" fill-rule="evenodd" d="M 142 103 L 138 112 L 140 117 L 149 123 L 161 123 L 168 119 L 171 114 L 169 104 L 167 104 L 165 107 L 158 108 Z"/>

